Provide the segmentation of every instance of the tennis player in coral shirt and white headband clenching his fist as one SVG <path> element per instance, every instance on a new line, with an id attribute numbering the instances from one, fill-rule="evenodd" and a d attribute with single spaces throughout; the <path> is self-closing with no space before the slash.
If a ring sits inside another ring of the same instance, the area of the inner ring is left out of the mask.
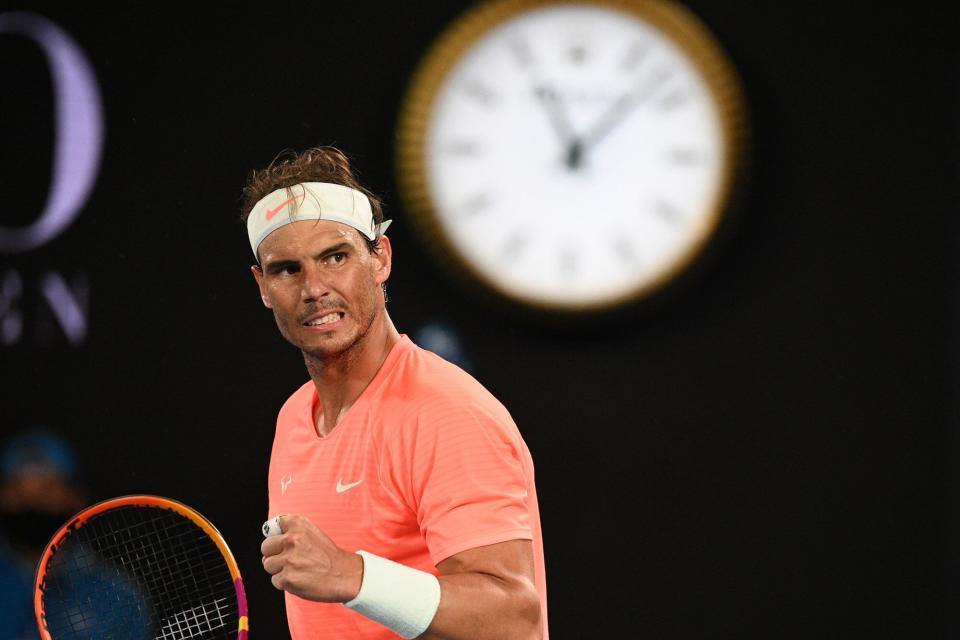
<path id="1" fill-rule="evenodd" d="M 253 276 L 310 380 L 280 409 L 263 566 L 294 640 L 547 638 L 530 453 L 386 310 L 389 221 L 332 147 L 251 172 Z"/>

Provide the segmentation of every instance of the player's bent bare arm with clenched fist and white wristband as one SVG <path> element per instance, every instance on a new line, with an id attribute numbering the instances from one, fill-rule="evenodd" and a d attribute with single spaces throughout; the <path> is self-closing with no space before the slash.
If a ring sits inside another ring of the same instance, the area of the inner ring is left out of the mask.
<path id="1" fill-rule="evenodd" d="M 426 631 L 417 636 L 424 640 L 542 637 L 529 540 L 461 551 L 443 560 L 437 566 L 440 576 L 434 578 L 341 549 L 306 518 L 283 516 L 282 530 L 261 547 L 264 568 L 277 589 L 317 602 L 365 600 L 361 613 L 395 630 L 421 624 L 425 609 L 435 611 L 432 620 L 427 618 Z M 392 567 L 386 577 L 380 563 Z M 422 593 L 422 585 L 429 588 L 434 580 L 439 583 L 439 606 L 429 591 Z M 370 595 L 358 598 L 362 591 Z"/>

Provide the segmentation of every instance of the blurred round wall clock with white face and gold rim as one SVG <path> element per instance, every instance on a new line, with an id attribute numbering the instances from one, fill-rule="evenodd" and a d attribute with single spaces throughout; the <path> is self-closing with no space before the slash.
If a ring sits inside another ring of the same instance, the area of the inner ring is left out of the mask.
<path id="1" fill-rule="evenodd" d="M 415 231 L 469 286 L 610 310 L 691 266 L 740 171 L 745 106 L 710 31 L 666 0 L 493 0 L 440 34 L 398 121 Z"/>

